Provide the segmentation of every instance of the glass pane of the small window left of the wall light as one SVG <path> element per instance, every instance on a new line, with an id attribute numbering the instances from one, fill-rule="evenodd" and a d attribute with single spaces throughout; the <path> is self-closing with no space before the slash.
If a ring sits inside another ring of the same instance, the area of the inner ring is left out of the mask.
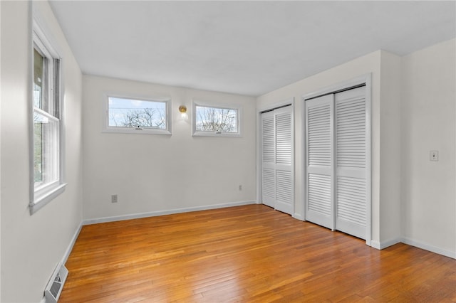
<path id="1" fill-rule="evenodd" d="M 108 97 L 109 127 L 167 129 L 166 102 Z"/>

